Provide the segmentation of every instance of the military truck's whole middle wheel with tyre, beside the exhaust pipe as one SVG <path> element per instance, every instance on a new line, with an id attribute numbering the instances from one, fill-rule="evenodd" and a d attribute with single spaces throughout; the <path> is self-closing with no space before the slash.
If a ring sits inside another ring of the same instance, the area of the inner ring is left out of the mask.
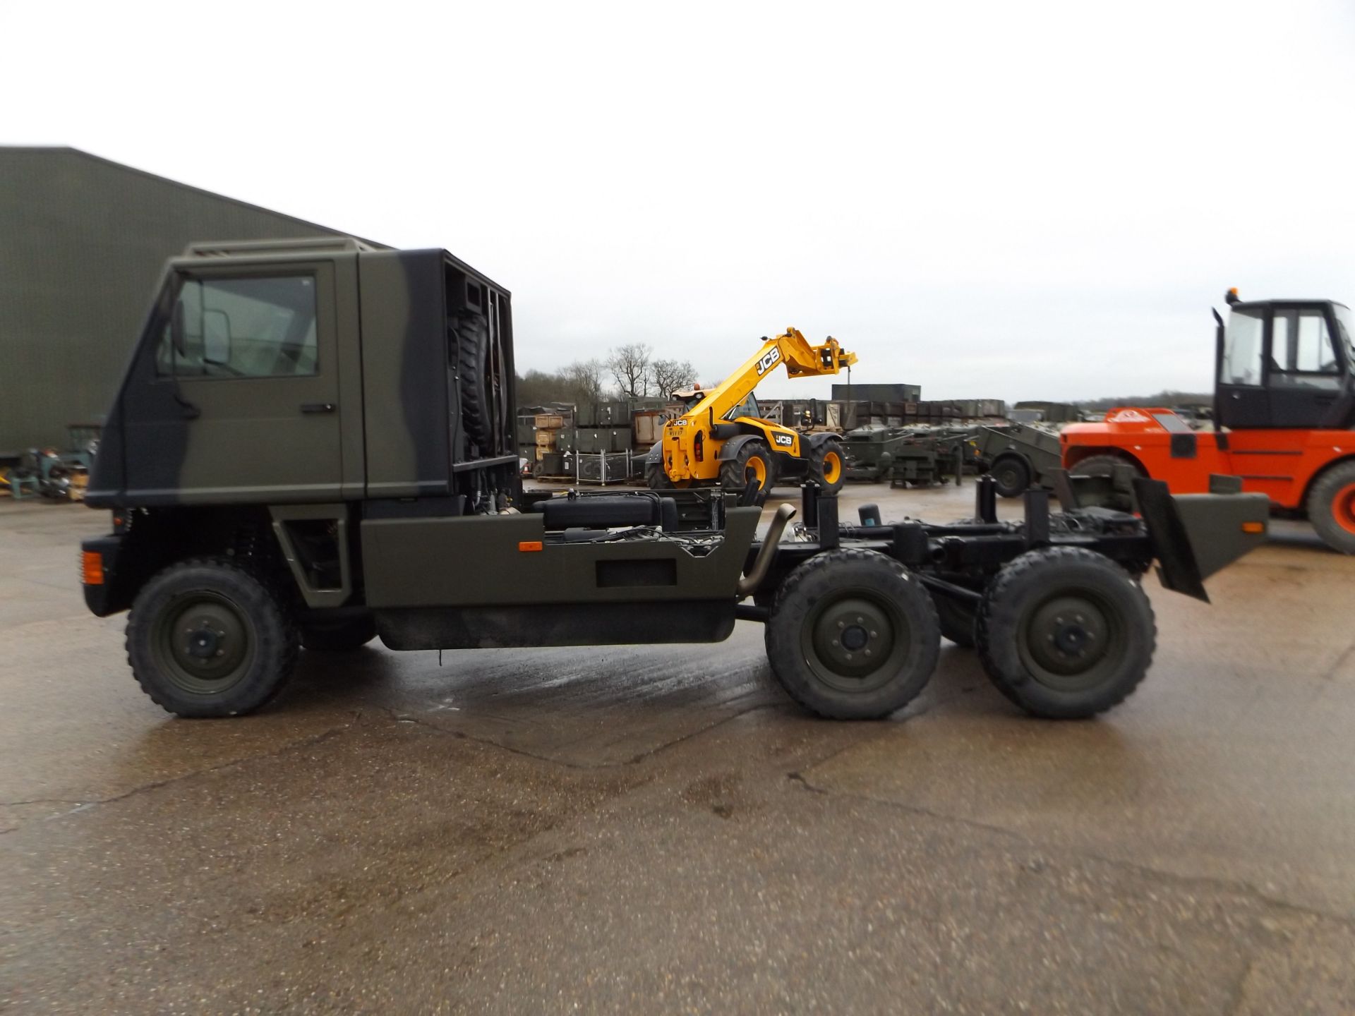
<path id="1" fill-rule="evenodd" d="M 831 719 L 878 719 L 936 669 L 940 627 L 921 583 L 873 550 L 832 550 L 780 584 L 767 658 L 795 702 Z"/>

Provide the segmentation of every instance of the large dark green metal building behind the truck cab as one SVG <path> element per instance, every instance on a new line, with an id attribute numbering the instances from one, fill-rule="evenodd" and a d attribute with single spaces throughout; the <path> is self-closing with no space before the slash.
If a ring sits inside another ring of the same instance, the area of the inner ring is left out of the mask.
<path id="1" fill-rule="evenodd" d="M 0 146 L 0 455 L 107 412 L 167 257 L 312 236 L 340 232 L 73 148 Z"/>

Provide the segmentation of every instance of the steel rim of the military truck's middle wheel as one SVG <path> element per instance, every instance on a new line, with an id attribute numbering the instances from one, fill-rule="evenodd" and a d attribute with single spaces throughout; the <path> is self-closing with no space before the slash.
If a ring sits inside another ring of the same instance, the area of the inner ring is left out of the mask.
<path id="1" fill-rule="evenodd" d="M 913 638 L 908 618 L 874 589 L 841 589 L 810 611 L 799 648 L 814 677 L 835 691 L 867 695 L 902 669 Z"/>

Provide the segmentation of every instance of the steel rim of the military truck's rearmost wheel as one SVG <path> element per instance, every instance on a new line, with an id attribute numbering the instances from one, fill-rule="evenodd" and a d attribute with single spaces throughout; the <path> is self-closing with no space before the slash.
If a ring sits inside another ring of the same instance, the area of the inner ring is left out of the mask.
<path id="1" fill-rule="evenodd" d="M 1115 672 L 1127 631 L 1121 610 L 1099 592 L 1060 589 L 1022 614 L 1018 652 L 1037 683 L 1053 691 L 1085 691 Z"/>

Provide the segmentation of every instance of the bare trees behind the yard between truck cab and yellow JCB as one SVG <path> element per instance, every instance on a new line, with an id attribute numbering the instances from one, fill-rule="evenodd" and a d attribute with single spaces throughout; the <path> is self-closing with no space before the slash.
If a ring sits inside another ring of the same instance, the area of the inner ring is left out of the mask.
<path id="1" fill-rule="evenodd" d="M 603 359 L 575 360 L 558 371 L 519 374 L 518 402 L 596 405 L 622 398 L 668 398 L 694 383 L 696 368 L 690 360 L 656 359 L 644 343 L 627 343 L 608 350 Z"/>

